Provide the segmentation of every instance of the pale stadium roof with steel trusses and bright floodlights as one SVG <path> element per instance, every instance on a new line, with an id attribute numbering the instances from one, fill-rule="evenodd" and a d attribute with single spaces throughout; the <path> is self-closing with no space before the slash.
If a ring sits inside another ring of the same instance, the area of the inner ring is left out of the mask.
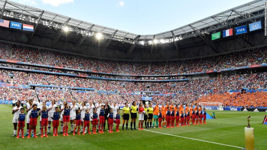
<path id="1" fill-rule="evenodd" d="M 11 1 L 0 0 L 0 7 L 1 16 L 7 15 L 8 17 L 36 22 L 47 27 L 53 26 L 58 29 L 64 29 L 65 27 L 68 27 L 68 30 L 76 32 L 77 34 L 89 35 L 100 32 L 103 34 L 103 37 L 107 39 L 123 41 L 127 43 L 136 43 L 141 41 L 148 43 L 152 42 L 154 39 L 175 39 L 176 37 L 189 38 L 194 37 L 195 35 L 198 35 L 198 33 L 202 32 L 209 34 L 209 32 L 218 30 L 226 25 L 230 26 L 235 23 L 248 20 L 253 22 L 254 18 L 259 17 L 258 15 L 262 15 L 262 13 L 257 13 L 257 11 L 264 9 L 264 0 L 255 0 L 190 23 L 189 25 L 155 35 L 138 35 L 109 27 L 95 25 L 93 23 L 81 21 Z"/>

